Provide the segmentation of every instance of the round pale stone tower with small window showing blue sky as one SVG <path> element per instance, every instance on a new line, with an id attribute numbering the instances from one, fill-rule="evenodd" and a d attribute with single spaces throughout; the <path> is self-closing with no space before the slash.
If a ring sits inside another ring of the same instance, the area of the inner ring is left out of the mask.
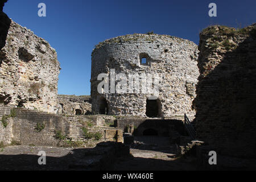
<path id="1" fill-rule="evenodd" d="M 92 52 L 92 113 L 194 117 L 197 53 L 195 43 L 169 35 L 133 34 L 99 43 Z"/>

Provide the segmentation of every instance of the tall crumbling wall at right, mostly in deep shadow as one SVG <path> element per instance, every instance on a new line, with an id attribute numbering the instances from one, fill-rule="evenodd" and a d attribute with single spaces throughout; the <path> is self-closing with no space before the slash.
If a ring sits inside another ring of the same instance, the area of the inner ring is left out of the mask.
<path id="1" fill-rule="evenodd" d="M 199 50 L 198 137 L 219 154 L 255 158 L 256 24 L 206 28 Z"/>

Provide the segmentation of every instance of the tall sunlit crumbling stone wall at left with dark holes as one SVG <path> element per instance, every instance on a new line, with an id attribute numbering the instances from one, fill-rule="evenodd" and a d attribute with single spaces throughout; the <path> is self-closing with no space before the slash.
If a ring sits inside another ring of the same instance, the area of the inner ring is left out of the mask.
<path id="1" fill-rule="evenodd" d="M 56 113 L 59 72 L 55 49 L 11 21 L 0 51 L 0 102 Z"/>

